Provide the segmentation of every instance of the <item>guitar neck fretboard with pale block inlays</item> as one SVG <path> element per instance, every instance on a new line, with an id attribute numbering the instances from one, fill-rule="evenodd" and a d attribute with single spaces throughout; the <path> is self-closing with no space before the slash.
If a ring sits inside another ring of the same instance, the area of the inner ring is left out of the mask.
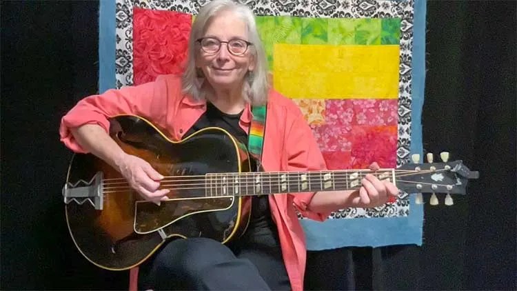
<path id="1" fill-rule="evenodd" d="M 206 197 L 256 196 L 264 194 L 356 190 L 366 174 L 395 180 L 394 169 L 325 170 L 305 172 L 246 172 L 207 174 Z"/>

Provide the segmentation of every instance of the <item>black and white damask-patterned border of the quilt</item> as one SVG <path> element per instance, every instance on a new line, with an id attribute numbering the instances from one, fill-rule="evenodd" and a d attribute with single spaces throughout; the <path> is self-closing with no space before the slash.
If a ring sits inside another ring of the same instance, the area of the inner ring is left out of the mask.
<path id="1" fill-rule="evenodd" d="M 171 10 L 196 14 L 209 0 L 116 0 L 116 88 L 133 83 L 133 8 Z M 412 106 L 412 46 L 414 0 L 241 0 L 256 15 L 329 18 L 400 18 L 397 165 L 409 161 Z M 406 217 L 409 197 L 380 208 L 349 208 L 332 213 L 330 219 L 359 217 Z"/>

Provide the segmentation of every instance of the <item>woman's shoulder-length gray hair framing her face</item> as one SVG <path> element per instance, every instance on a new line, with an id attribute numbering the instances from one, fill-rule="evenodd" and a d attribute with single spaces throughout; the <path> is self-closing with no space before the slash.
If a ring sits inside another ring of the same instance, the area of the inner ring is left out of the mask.
<path id="1" fill-rule="evenodd" d="M 181 80 L 181 87 L 184 94 L 190 94 L 194 99 L 203 100 L 205 94 L 201 91 L 201 83 L 197 81 L 198 70 L 196 69 L 196 56 L 199 50 L 196 50 L 196 39 L 203 37 L 207 23 L 220 12 L 232 11 L 238 15 L 247 26 L 247 32 L 251 43 L 250 52 L 255 60 L 255 68 L 253 72 L 247 72 L 243 85 L 243 98 L 254 106 L 260 106 L 267 101 L 267 93 L 269 91 L 269 83 L 267 81 L 267 60 L 265 57 L 264 47 L 256 29 L 255 15 L 253 11 L 246 6 L 232 0 L 214 0 L 201 7 L 199 14 L 196 15 L 192 30 L 190 31 L 190 39 L 188 42 L 188 57 L 185 72 Z"/>

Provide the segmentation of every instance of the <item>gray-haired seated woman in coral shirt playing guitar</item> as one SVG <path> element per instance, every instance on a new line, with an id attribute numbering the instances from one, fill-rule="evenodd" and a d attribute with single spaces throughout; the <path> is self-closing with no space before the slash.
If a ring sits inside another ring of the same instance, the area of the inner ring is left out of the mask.
<path id="1" fill-rule="evenodd" d="M 62 119 L 63 143 L 103 159 L 144 199 L 160 203 L 169 193 L 159 189 L 163 177 L 108 136 L 108 117 L 146 117 L 176 140 L 218 126 L 247 144 L 251 107 L 267 102 L 264 170 L 325 169 L 301 110 L 267 86 L 265 54 L 250 8 L 230 0 L 201 8 L 192 25 L 188 56 L 182 77 L 160 76 L 80 101 Z M 140 287 L 303 290 L 306 250 L 295 207 L 305 217 L 323 221 L 334 210 L 382 205 L 397 193 L 392 183 L 368 175 L 355 192 L 254 198 L 252 221 L 243 237 L 227 245 L 204 238 L 170 241 L 141 265 Z"/>

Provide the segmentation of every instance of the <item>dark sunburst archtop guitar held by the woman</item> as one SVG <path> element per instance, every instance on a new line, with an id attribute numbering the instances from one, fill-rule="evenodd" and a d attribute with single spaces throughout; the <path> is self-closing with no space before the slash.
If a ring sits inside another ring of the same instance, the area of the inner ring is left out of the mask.
<path id="1" fill-rule="evenodd" d="M 476 179 L 462 161 L 406 163 L 398 169 L 257 172 L 245 145 L 221 128 L 172 141 L 134 115 L 110 119 L 110 137 L 165 177 L 170 200 L 145 201 L 121 174 L 92 154 L 74 154 L 63 187 L 65 215 L 79 252 L 108 270 L 139 265 L 174 237 L 227 243 L 250 221 L 252 196 L 354 190 L 366 174 L 390 179 L 407 193 L 465 194 Z"/>

